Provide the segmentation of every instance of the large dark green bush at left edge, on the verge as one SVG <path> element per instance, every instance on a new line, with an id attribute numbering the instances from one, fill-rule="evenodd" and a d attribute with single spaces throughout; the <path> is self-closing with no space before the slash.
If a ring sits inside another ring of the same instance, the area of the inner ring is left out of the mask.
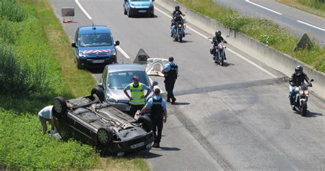
<path id="1" fill-rule="evenodd" d="M 0 46 L 0 94 L 21 96 L 47 88 L 47 66 L 42 57 L 36 60 L 35 69 L 21 59 L 12 48 Z"/>

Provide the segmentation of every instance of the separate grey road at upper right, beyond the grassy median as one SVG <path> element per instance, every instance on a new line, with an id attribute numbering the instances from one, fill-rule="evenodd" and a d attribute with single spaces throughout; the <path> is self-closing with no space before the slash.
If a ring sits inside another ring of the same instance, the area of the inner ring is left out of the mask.
<path id="1" fill-rule="evenodd" d="M 307 33 L 311 39 L 315 39 L 319 44 L 325 46 L 325 18 L 291 8 L 273 0 L 213 1 L 247 16 L 267 18 L 278 23 L 281 27 L 289 29 L 298 37 Z"/>

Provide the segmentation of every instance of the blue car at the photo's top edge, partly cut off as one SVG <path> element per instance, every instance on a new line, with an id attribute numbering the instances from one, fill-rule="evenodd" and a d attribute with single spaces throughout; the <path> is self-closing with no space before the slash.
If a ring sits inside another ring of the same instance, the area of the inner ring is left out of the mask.
<path id="1" fill-rule="evenodd" d="M 124 14 L 128 17 L 145 14 L 154 17 L 154 0 L 124 0 Z"/>

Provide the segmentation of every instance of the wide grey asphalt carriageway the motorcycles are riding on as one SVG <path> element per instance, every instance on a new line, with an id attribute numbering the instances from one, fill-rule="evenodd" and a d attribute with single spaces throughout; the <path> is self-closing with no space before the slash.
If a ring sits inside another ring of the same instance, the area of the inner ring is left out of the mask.
<path id="1" fill-rule="evenodd" d="M 281 73 L 254 60 L 245 49 L 232 47 L 231 42 L 226 66 L 217 66 L 208 51 L 210 42 L 192 29 L 210 35 L 191 21 L 185 41 L 173 42 L 170 18 L 162 13 L 169 12 L 158 5 L 154 18 L 128 18 L 123 15 L 123 1 L 79 2 L 92 20 L 76 1 L 51 0 L 60 20 L 61 8 L 75 8 L 74 23 L 62 24 L 71 40 L 79 26 L 108 25 L 127 54 L 118 50 L 119 63 L 132 62 L 142 48 L 150 57 L 173 56 L 180 67 L 175 88 L 178 100 L 168 105 L 162 148 L 153 148 L 147 155 L 152 170 L 325 168 L 324 101 L 311 95 L 308 117 L 296 114 L 289 107 Z M 98 80 L 100 70 L 93 75 Z M 164 87 L 161 77 L 152 79 Z"/>

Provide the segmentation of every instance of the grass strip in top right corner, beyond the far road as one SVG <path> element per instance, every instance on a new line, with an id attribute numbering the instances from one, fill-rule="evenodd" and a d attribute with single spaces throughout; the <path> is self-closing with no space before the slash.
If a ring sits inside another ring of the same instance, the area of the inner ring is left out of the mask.
<path id="1" fill-rule="evenodd" d="M 279 3 L 297 8 L 311 14 L 325 17 L 325 1 L 324 0 L 276 0 Z"/>

